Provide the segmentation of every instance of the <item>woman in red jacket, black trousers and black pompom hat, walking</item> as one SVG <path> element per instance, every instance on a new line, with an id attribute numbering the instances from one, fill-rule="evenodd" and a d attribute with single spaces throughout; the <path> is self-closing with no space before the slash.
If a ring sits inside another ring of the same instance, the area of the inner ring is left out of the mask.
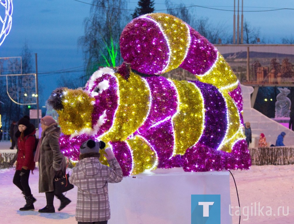
<path id="1" fill-rule="evenodd" d="M 15 133 L 18 145 L 18 154 L 16 159 L 16 171 L 13 177 L 13 183 L 25 195 L 26 205 L 21 207 L 20 211 L 34 210 L 34 202 L 36 199 L 31 193 L 29 186 L 29 176 L 31 170 L 35 169 L 33 150 L 35 147 L 36 133 L 35 126 L 30 121 L 23 117 L 18 122 L 19 130 Z"/>

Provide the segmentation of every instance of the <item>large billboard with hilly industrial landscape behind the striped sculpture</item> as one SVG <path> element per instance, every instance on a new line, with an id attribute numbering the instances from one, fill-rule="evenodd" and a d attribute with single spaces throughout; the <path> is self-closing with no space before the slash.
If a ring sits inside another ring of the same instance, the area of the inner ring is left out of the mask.
<path id="1" fill-rule="evenodd" d="M 215 45 L 243 85 L 294 86 L 294 45 Z M 165 77 L 195 80 L 177 68 Z"/>

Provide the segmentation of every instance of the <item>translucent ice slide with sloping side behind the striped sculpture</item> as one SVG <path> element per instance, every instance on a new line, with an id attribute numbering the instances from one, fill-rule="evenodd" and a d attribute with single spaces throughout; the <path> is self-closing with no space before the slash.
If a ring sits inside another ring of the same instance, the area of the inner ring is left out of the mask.
<path id="1" fill-rule="evenodd" d="M 253 93 L 252 86 L 241 85 L 241 89 L 243 96 L 244 123 L 247 121 L 250 122 L 252 132 L 252 143 L 249 147 L 258 147 L 260 133 L 265 135 L 268 146 L 270 146 L 270 144 L 275 144 L 278 135 L 282 131 L 286 133 L 284 144 L 286 146 L 294 146 L 294 131 L 251 108 L 250 94 Z"/>

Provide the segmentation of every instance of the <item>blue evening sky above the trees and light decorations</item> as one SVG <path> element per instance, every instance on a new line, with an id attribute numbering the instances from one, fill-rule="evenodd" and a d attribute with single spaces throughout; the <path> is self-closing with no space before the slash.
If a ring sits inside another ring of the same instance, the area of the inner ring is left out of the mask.
<path id="1" fill-rule="evenodd" d="M 80 0 L 91 3 L 92 0 Z M 128 9 L 137 6 L 136 0 L 126 0 Z M 233 10 L 233 0 L 173 0 L 173 8 L 179 3 L 198 5 L 222 10 Z M 241 0 L 239 0 L 241 9 Z M 236 6 L 238 0 L 236 0 Z M 61 76 L 69 73 L 54 73 L 60 70 L 81 70 L 83 54 L 78 48 L 78 37 L 84 34 L 83 21 L 89 16 L 90 5 L 74 0 L 13 0 L 12 28 L 0 46 L 0 57 L 21 54 L 26 42 L 33 58 L 38 55 L 40 106 L 43 106 Z M 0 7 L 2 7 L 0 5 Z M 264 11 L 281 8 L 294 9 L 294 1 L 244 0 L 244 20 L 252 27 L 260 28 L 260 39 L 280 43 L 285 37 L 294 38 L 294 10 Z M 164 0 L 155 0 L 156 12 L 166 12 Z M 233 11 L 222 11 L 203 7 L 191 7 L 196 17 L 207 17 L 211 24 L 223 24 L 228 33 L 233 33 Z M 161 11 L 158 11 L 161 10 Z M 259 12 L 248 12 L 258 11 Z M 3 11 L 2 11 L 3 12 Z M 133 11 L 126 11 L 133 13 Z M 1 15 L 1 8 L 0 8 Z M 33 65 L 34 66 L 34 65 Z M 42 74 L 49 73 L 49 74 Z M 81 73 L 73 73 L 80 75 Z"/>

